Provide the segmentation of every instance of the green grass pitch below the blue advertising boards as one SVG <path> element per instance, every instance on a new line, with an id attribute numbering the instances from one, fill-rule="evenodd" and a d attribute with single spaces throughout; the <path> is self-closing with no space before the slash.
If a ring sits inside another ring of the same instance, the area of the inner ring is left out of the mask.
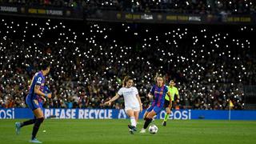
<path id="1" fill-rule="evenodd" d="M 14 122 L 22 120 L 0 120 L 0 143 L 29 143 L 32 126 L 22 128 L 21 134 L 14 132 Z M 246 144 L 256 143 L 256 121 L 210 121 L 210 120 L 169 120 L 166 127 L 160 120 L 158 134 L 131 135 L 127 125 L 129 119 L 122 120 L 80 120 L 46 119 L 38 131 L 38 139 L 43 143 L 154 143 L 154 144 Z M 138 130 L 143 121 L 138 123 Z M 43 132 L 46 130 L 46 132 Z"/>

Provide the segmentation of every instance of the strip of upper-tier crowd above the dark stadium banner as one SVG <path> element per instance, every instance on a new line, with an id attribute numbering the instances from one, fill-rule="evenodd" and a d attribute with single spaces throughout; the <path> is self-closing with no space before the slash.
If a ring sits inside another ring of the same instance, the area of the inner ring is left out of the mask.
<path id="1" fill-rule="evenodd" d="M 255 14 L 256 10 L 254 0 L 0 0 L 0 3 L 178 14 Z"/>

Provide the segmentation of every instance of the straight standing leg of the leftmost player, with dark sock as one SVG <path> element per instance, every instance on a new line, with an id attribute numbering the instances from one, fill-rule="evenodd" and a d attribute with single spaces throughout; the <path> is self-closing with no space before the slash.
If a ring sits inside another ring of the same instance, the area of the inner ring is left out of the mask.
<path id="1" fill-rule="evenodd" d="M 41 126 L 41 124 L 44 120 L 42 109 L 40 107 L 38 107 L 37 109 L 33 110 L 33 113 L 34 113 L 34 116 L 36 117 L 36 120 L 34 122 L 32 138 L 31 138 L 30 142 L 42 143 L 42 142 L 39 142 L 38 139 L 36 138 L 36 135 L 38 134 L 39 127 Z"/>

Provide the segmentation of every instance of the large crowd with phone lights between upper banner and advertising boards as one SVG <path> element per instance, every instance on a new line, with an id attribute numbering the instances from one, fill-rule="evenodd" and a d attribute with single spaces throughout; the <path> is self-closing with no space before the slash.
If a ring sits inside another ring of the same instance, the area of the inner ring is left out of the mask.
<path id="1" fill-rule="evenodd" d="M 156 73 L 174 79 L 179 109 L 244 109 L 243 86 L 256 83 L 254 26 L 167 26 L 0 19 L 0 107 L 26 107 L 42 59 L 52 63 L 46 107 L 123 108 L 103 102 L 134 78 L 144 108 Z"/>

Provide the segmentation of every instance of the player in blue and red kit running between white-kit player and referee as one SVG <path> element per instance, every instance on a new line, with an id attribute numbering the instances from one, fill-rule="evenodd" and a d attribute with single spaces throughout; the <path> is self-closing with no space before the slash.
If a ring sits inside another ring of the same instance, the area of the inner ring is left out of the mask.
<path id="1" fill-rule="evenodd" d="M 154 98 L 154 100 L 144 114 L 145 123 L 140 133 L 146 133 L 146 128 L 150 125 L 150 122 L 152 122 L 152 118 L 162 110 L 165 104 L 166 94 L 170 98 L 169 106 L 172 106 L 170 93 L 168 91 L 168 87 L 164 85 L 164 78 L 162 75 L 157 74 L 156 82 L 157 85 L 152 86 L 150 93 L 148 94 L 149 98 Z"/>

